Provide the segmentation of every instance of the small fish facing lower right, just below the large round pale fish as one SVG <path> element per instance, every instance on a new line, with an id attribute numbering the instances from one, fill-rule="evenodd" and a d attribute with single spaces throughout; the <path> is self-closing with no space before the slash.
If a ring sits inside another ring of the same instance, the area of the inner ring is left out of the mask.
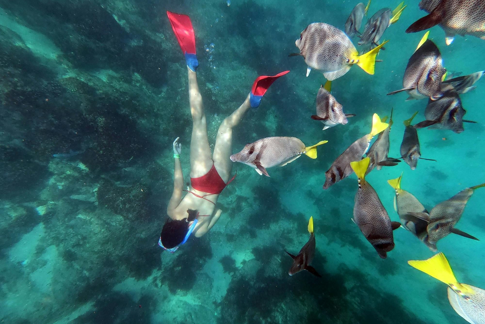
<path id="1" fill-rule="evenodd" d="M 342 105 L 330 94 L 332 81 L 327 81 L 318 89 L 317 93 L 317 114 L 311 119 L 321 120 L 325 125 L 323 130 L 338 124 L 346 125 L 347 117 L 354 117 L 354 114 L 344 114 Z"/>

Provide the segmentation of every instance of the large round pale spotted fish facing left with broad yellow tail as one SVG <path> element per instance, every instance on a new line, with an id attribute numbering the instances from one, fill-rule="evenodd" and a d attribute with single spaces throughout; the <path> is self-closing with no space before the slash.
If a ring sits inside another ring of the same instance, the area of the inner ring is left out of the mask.
<path id="1" fill-rule="evenodd" d="M 375 56 L 386 42 L 372 51 L 359 55 L 354 44 L 344 32 L 337 27 L 315 22 L 309 24 L 295 41 L 307 63 L 307 76 L 312 68 L 321 70 L 327 80 L 335 80 L 358 65 L 369 74 L 374 74 Z"/>

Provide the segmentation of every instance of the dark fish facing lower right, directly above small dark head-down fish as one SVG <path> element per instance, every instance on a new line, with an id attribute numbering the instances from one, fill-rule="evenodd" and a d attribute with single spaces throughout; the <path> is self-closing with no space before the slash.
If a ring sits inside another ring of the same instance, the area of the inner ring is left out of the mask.
<path id="1" fill-rule="evenodd" d="M 434 127 L 440 127 L 444 129 L 452 130 L 455 133 L 461 133 L 464 131 L 463 122 L 472 122 L 467 119 L 463 119 L 466 111 L 461 105 L 461 99 L 458 93 L 453 89 L 449 89 L 443 93 L 443 96 L 438 100 L 428 102 L 426 110 L 424 111 L 423 120 L 414 128 L 423 128 L 434 125 Z"/>

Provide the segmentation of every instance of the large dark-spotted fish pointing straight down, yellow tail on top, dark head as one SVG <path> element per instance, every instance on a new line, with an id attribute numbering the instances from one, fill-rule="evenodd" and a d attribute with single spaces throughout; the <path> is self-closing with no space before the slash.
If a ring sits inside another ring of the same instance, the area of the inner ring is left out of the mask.
<path id="1" fill-rule="evenodd" d="M 358 178 L 358 189 L 354 203 L 353 221 L 365 238 L 372 244 L 377 254 L 385 259 L 394 248 L 392 231 L 398 228 L 399 222 L 391 222 L 374 188 L 365 181 L 365 172 L 369 167 L 369 158 L 350 163 Z"/>

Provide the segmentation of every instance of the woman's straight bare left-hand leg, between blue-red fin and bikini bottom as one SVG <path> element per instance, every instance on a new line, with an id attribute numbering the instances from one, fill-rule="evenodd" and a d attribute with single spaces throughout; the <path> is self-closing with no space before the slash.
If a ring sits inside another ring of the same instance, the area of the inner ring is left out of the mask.
<path id="1" fill-rule="evenodd" d="M 202 96 L 197 85 L 197 74 L 187 67 L 189 72 L 189 102 L 192 114 L 192 138 L 190 142 L 190 177 L 197 178 L 206 174 L 212 167 L 209 139 Z"/>

